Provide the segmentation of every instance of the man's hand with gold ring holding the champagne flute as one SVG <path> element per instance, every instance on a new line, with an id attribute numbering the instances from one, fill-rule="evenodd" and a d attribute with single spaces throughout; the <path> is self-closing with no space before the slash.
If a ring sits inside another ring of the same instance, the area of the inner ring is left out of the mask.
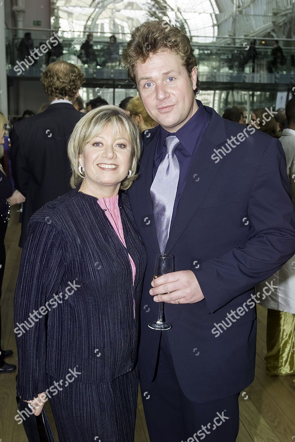
<path id="1" fill-rule="evenodd" d="M 153 298 L 156 302 L 169 304 L 192 304 L 204 299 L 199 282 L 191 270 L 180 270 L 159 276 L 151 282 L 153 289 L 150 295 L 161 295 Z M 161 294 L 166 293 L 166 294 Z"/>

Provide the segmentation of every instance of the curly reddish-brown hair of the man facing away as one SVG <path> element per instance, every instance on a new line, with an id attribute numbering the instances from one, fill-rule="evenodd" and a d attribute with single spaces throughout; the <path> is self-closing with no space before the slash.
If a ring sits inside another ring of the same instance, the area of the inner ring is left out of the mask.
<path id="1" fill-rule="evenodd" d="M 84 82 L 84 74 L 72 63 L 57 60 L 47 66 L 40 81 L 50 99 L 67 97 L 73 101 Z"/>

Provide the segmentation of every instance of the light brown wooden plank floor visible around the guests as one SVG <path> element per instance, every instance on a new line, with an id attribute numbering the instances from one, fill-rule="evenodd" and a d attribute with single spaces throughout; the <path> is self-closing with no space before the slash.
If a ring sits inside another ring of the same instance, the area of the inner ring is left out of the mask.
<path id="1" fill-rule="evenodd" d="M 14 364 L 16 364 L 17 358 L 13 331 L 13 294 L 21 253 L 18 247 L 19 213 L 16 213 L 15 210 L 15 206 L 11 208 L 11 220 L 5 239 L 7 261 L 1 300 L 2 343 L 4 349 L 14 351 L 15 354 L 7 359 L 7 362 Z M 246 389 L 245 394 L 240 395 L 241 422 L 238 442 L 295 441 L 295 389 L 293 380 L 291 376 L 268 377 L 265 374 L 265 329 L 266 310 L 258 306 L 256 377 L 253 384 Z M 228 369 L 230 370 L 230 362 Z M 0 375 L 0 441 L 3 442 L 27 441 L 23 426 L 19 425 L 14 419 L 17 410 L 15 374 Z M 48 402 L 46 403 L 46 409 L 48 409 Z M 48 412 L 50 413 L 50 410 Z M 140 396 L 135 442 L 149 442 Z"/>

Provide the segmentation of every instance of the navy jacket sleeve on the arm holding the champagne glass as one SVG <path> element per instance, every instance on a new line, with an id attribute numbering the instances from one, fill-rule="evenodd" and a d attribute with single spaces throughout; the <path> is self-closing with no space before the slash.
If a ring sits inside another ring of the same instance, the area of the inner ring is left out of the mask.
<path id="1" fill-rule="evenodd" d="M 274 274 L 295 252 L 295 211 L 279 141 L 268 143 L 249 195 L 249 239 L 195 273 L 210 313 Z"/>

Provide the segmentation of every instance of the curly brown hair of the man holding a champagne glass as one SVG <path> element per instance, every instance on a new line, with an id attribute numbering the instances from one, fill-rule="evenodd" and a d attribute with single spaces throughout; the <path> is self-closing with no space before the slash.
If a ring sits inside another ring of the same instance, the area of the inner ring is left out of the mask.
<path id="1" fill-rule="evenodd" d="M 165 20 L 155 20 L 142 23 L 134 29 L 121 57 L 127 76 L 135 85 L 136 64 L 145 63 L 151 53 L 161 50 L 171 50 L 178 55 L 191 80 L 191 72 L 197 62 L 189 38 L 183 30 L 170 26 Z M 195 95 L 199 92 L 199 84 L 197 78 Z"/>

